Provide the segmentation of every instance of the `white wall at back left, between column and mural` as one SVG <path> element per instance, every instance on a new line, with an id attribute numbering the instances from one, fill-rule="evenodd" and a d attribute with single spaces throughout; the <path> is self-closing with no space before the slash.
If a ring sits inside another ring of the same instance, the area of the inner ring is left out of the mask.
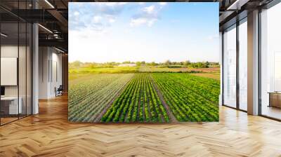
<path id="1" fill-rule="evenodd" d="M 55 97 L 61 84 L 62 55 L 55 48 L 39 47 L 39 99 Z"/>

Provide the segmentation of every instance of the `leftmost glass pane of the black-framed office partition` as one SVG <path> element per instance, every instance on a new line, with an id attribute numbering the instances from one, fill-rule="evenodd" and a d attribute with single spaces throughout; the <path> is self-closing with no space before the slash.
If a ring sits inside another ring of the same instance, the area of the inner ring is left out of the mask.
<path id="1" fill-rule="evenodd" d="M 1 124 L 15 121 L 22 114 L 18 99 L 18 29 L 18 22 L 1 23 Z"/>

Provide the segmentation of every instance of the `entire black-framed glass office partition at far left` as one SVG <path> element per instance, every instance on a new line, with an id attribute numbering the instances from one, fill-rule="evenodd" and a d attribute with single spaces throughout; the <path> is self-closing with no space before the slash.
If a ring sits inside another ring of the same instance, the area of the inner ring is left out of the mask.
<path id="1" fill-rule="evenodd" d="M 30 8 L 30 2 L 13 1 L 13 8 Z M 32 114 L 32 25 L 0 8 L 0 33 L 0 125 L 4 125 Z"/>

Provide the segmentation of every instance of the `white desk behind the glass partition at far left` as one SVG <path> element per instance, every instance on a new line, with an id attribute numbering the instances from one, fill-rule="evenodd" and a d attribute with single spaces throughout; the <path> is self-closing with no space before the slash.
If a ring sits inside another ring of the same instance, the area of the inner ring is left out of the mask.
<path id="1" fill-rule="evenodd" d="M 20 103 L 18 103 L 20 100 Z M 1 102 L 9 102 L 8 114 L 22 114 L 22 97 L 1 97 Z"/>

